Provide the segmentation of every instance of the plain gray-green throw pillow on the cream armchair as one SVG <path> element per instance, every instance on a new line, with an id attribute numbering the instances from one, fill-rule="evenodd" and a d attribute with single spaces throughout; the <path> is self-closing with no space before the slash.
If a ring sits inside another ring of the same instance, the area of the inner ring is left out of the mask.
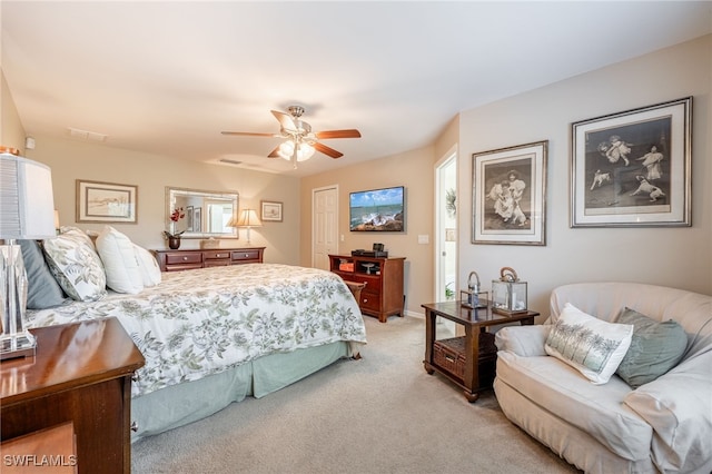
<path id="1" fill-rule="evenodd" d="M 637 388 L 673 368 L 688 346 L 688 335 L 675 320 L 656 322 L 625 308 L 617 323 L 633 325 L 633 339 L 617 371 L 619 377 Z"/>

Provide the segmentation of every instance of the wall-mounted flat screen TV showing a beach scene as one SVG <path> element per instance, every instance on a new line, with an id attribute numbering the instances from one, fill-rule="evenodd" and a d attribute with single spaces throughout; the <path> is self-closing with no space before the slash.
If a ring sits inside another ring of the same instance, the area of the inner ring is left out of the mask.
<path id="1" fill-rule="evenodd" d="M 352 231 L 402 233 L 405 230 L 405 188 L 372 189 L 349 195 Z"/>

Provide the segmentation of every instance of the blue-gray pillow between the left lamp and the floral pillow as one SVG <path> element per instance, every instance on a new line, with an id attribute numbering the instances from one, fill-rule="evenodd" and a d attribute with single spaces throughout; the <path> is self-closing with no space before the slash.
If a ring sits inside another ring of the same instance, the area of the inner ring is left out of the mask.
<path id="1" fill-rule="evenodd" d="M 27 271 L 28 309 L 47 309 L 67 300 L 65 292 L 57 283 L 44 261 L 44 254 L 37 240 L 18 240 L 22 249 L 22 260 Z"/>

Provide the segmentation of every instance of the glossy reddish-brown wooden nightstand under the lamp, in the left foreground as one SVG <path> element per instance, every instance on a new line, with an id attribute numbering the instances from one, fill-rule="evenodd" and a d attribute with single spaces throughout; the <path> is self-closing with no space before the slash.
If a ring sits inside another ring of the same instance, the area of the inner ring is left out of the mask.
<path id="1" fill-rule="evenodd" d="M 116 318 L 31 332 L 37 355 L 0 363 L 0 440 L 71 422 L 80 474 L 130 473 L 134 340 Z"/>

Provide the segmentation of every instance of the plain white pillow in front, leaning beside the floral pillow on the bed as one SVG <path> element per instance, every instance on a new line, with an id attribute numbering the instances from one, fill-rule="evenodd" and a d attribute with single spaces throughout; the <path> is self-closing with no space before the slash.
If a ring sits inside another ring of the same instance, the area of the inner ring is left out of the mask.
<path id="1" fill-rule="evenodd" d="M 144 289 L 144 277 L 130 238 L 111 226 L 103 226 L 97 236 L 97 251 L 103 261 L 109 288 L 131 295 Z"/>

